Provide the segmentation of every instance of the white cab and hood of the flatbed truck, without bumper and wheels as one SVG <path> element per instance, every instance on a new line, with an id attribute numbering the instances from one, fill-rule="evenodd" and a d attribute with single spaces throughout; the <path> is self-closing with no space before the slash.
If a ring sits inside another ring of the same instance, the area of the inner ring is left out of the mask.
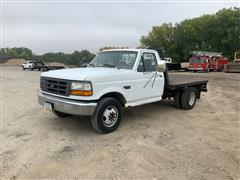
<path id="1" fill-rule="evenodd" d="M 153 50 L 105 50 L 98 53 L 88 67 L 42 73 L 42 84 L 47 82 L 42 90 L 49 95 L 82 101 L 97 100 L 106 93 L 119 93 L 125 97 L 126 107 L 136 106 L 161 99 L 164 76 L 163 72 L 156 71 L 156 67 L 164 63 Z M 153 78 L 153 84 L 147 83 Z M 76 81 L 71 83 L 72 86 L 80 85 L 78 81 L 86 82 L 85 86 L 91 92 L 81 94 L 74 89 L 57 90 L 50 86 L 52 81 L 49 79 Z"/>

